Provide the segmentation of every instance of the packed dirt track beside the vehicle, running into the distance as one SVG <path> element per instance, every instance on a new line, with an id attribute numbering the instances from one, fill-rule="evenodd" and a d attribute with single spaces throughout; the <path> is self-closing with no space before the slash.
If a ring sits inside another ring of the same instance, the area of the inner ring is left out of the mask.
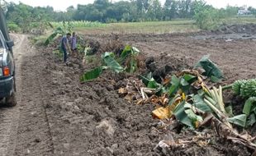
<path id="1" fill-rule="evenodd" d="M 26 35 L 15 35 L 17 106 L 0 108 L 0 155 L 53 155 L 54 146 L 45 113 L 42 88 L 45 61 L 29 45 Z"/>

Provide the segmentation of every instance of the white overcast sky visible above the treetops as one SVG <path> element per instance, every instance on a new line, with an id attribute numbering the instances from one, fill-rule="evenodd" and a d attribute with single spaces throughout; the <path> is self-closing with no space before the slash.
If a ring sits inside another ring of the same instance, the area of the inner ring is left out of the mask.
<path id="1" fill-rule="evenodd" d="M 23 2 L 30 6 L 36 7 L 46 7 L 51 6 L 55 8 L 55 11 L 64 11 L 69 6 L 76 7 L 78 4 L 88 4 L 94 2 L 94 0 L 6 0 L 7 2 Z M 111 0 L 110 0 L 111 1 Z M 112 2 L 117 2 L 118 0 L 112 0 Z M 160 0 L 164 4 L 165 0 Z M 227 4 L 230 6 L 252 6 L 256 7 L 256 0 L 206 0 L 213 7 L 225 7 Z"/>

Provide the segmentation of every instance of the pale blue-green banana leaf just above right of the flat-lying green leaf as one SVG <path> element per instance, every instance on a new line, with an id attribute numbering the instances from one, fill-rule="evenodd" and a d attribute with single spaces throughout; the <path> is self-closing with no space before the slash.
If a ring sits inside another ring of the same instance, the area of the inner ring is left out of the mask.
<path id="1" fill-rule="evenodd" d="M 104 53 L 102 54 L 102 59 L 107 64 L 107 67 L 109 67 L 111 70 L 115 71 L 116 73 L 120 73 L 124 71 L 124 68 L 121 67 L 121 65 L 116 62 L 114 53 Z"/>

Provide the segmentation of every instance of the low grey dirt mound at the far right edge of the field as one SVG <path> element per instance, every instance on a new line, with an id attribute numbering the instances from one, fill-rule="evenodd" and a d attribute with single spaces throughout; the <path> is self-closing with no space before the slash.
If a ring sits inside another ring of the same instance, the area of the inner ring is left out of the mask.
<path id="1" fill-rule="evenodd" d="M 212 32 L 216 34 L 256 34 L 256 24 L 222 25 Z"/>

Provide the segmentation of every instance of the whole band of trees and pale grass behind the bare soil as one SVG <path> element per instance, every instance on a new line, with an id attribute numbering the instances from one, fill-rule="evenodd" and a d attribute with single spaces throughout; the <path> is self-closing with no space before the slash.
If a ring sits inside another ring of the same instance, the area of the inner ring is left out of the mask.
<path id="1" fill-rule="evenodd" d="M 110 2 L 96 0 L 92 4 L 68 7 L 66 11 L 54 11 L 53 7 L 31 7 L 23 3 L 6 2 L 7 20 L 11 31 L 44 34 L 47 22 L 58 27 L 70 23 L 78 30 L 96 29 L 127 30 L 137 32 L 172 33 L 213 30 L 221 24 L 235 21 L 254 22 L 255 8 L 249 7 L 251 16 L 239 17 L 237 13 L 244 7 L 227 6 L 216 9 L 203 0 L 166 0 L 162 7 L 159 0 L 135 0 L 131 2 Z M 125 8 L 125 9 L 124 9 Z M 161 22 L 156 22 L 161 21 Z M 165 22 L 166 21 L 166 22 Z M 178 23 L 174 26 L 175 23 Z M 155 27 L 155 25 L 157 25 Z M 145 29 L 145 30 L 144 30 Z"/>

